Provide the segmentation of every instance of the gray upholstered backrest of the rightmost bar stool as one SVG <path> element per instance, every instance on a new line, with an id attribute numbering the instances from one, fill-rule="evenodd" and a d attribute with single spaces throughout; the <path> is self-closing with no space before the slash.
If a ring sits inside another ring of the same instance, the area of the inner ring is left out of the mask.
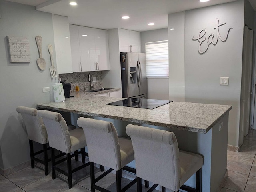
<path id="1" fill-rule="evenodd" d="M 180 184 L 179 148 L 173 132 L 129 124 L 136 162 L 136 175 L 145 180 L 178 189 Z"/>

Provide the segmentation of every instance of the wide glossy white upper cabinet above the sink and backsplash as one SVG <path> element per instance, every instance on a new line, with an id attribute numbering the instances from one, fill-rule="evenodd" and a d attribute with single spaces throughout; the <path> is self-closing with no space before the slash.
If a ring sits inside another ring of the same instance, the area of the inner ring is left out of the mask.
<path id="1" fill-rule="evenodd" d="M 110 70 L 107 30 L 70 25 L 70 36 L 74 72 Z"/>

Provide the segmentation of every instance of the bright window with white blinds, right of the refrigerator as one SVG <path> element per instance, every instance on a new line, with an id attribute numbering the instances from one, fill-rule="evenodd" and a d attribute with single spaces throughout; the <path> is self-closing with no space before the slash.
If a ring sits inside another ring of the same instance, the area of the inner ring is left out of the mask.
<path id="1" fill-rule="evenodd" d="M 145 48 L 147 78 L 168 78 L 168 41 L 149 42 L 145 44 Z"/>

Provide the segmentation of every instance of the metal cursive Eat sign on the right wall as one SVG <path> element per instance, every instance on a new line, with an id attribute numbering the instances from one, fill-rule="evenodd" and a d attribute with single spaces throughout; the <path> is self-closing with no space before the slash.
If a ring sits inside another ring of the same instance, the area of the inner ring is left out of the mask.
<path id="1" fill-rule="evenodd" d="M 219 31 L 219 27 L 226 24 L 225 22 L 224 23 L 220 23 L 219 24 L 219 20 L 216 19 L 216 26 L 214 27 L 214 29 L 216 30 L 216 38 L 214 38 L 214 34 L 211 33 L 208 35 L 208 37 L 206 38 L 205 37 L 205 34 L 206 34 L 206 29 L 202 29 L 199 34 L 198 34 L 198 37 L 195 38 L 194 36 L 192 37 L 192 40 L 198 40 L 199 42 L 199 46 L 198 46 L 198 52 L 200 54 L 203 54 L 207 51 L 208 47 L 210 44 L 213 44 L 213 45 L 216 45 L 217 42 L 218 42 L 218 39 L 220 39 L 222 42 L 225 42 L 228 38 L 228 33 L 230 31 L 230 29 L 232 29 L 232 27 L 229 27 L 228 28 L 228 31 L 226 33 L 226 36 L 222 37 L 220 35 L 220 31 Z M 204 43 L 205 42 L 205 43 Z M 206 46 L 204 46 L 204 48 L 202 48 L 202 44 L 206 44 Z"/>

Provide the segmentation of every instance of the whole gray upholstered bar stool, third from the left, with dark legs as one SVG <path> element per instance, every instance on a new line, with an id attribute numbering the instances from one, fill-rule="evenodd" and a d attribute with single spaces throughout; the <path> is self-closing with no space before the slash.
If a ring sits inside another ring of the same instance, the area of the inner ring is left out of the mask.
<path id="1" fill-rule="evenodd" d="M 97 186 L 96 182 L 112 170 L 116 170 L 117 192 L 124 192 L 135 184 L 136 178 L 124 188 L 121 187 L 122 169 L 135 172 L 134 169 L 131 170 L 126 167 L 126 164 L 134 160 L 131 140 L 118 138 L 116 128 L 112 122 L 80 117 L 77 124 L 83 128 L 86 137 L 90 161 L 91 191 L 95 192 L 96 189 L 102 192 L 110 192 Z M 107 166 L 110 169 L 95 178 L 94 163 Z"/>

